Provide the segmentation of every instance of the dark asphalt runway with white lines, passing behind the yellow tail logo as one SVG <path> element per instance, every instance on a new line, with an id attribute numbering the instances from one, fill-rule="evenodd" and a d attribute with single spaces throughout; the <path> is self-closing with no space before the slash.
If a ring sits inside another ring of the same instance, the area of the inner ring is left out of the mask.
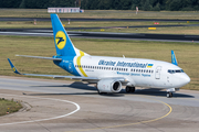
<path id="1" fill-rule="evenodd" d="M 71 37 L 83 38 L 109 38 L 109 40 L 142 40 L 161 42 L 195 42 L 199 43 L 199 35 L 179 34 L 144 34 L 144 33 L 111 33 L 111 32 L 78 32 L 67 31 Z M 53 36 L 49 29 L 3 29 L 0 35 L 22 35 L 22 36 Z"/>

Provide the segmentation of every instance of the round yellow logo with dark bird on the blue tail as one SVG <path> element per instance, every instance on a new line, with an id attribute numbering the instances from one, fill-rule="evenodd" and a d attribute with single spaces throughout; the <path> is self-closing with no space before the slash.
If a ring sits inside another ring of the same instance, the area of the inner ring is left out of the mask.
<path id="1" fill-rule="evenodd" d="M 59 31 L 55 35 L 55 42 L 56 42 L 56 46 L 59 50 L 64 48 L 65 44 L 66 44 L 66 36 L 65 33 L 62 31 Z"/>

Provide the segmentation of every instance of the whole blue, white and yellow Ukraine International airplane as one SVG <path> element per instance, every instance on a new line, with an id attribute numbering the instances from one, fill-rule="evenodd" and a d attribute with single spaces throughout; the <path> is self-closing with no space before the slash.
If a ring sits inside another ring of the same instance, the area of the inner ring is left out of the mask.
<path id="1" fill-rule="evenodd" d="M 172 92 L 190 81 L 189 76 L 178 67 L 174 51 L 171 51 L 171 63 L 126 58 L 125 56 L 92 56 L 73 45 L 57 14 L 51 14 L 51 22 L 56 55 L 53 57 L 17 56 L 51 59 L 55 65 L 74 76 L 21 74 L 8 58 L 15 74 L 87 81 L 96 84 L 100 95 L 119 92 L 123 86 L 126 87 L 126 92 L 134 92 L 135 87 L 166 89 L 167 98 L 172 97 Z"/>

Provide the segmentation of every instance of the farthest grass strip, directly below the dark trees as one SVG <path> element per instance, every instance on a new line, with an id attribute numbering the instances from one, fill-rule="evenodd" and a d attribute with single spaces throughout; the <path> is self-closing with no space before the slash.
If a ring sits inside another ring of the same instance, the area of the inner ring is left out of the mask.
<path id="1" fill-rule="evenodd" d="M 135 10 L 85 10 L 84 13 L 59 13 L 61 18 L 91 19 L 191 19 L 198 20 L 198 11 L 142 11 Z M 46 9 L 0 9 L 0 16 L 50 18 Z"/>

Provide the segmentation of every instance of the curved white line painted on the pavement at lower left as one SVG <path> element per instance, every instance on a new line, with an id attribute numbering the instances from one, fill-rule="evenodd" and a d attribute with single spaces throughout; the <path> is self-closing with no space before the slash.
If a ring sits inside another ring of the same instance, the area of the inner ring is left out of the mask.
<path id="1" fill-rule="evenodd" d="M 70 112 L 70 113 L 66 113 L 66 114 L 63 114 L 63 116 L 59 116 L 59 117 L 54 117 L 54 118 L 48 118 L 48 119 L 40 119 L 40 120 L 32 120 L 32 121 L 22 121 L 22 122 L 12 122 L 12 123 L 2 123 L 0 124 L 1 125 L 10 125 L 10 124 L 21 124 L 21 123 L 31 123 L 31 122 L 39 122 L 39 121 L 49 121 L 49 120 L 54 120 L 54 119 L 60 119 L 60 118 L 64 118 L 64 117 L 67 117 L 67 116 L 71 116 L 75 112 L 77 112 L 81 107 L 75 103 L 75 102 L 72 102 L 72 101 L 69 101 L 69 100 L 61 100 L 61 99 L 51 99 L 51 98 L 40 98 L 40 97 L 27 97 L 27 96 L 15 96 L 15 95 L 4 95 L 4 94 L 0 94 L 2 96 L 14 96 L 14 97 L 22 97 L 22 98 L 34 98 L 34 99 L 46 99 L 46 100 L 53 100 L 53 101 L 62 101 L 62 102 L 67 102 L 67 103 L 72 103 L 76 107 L 76 110 Z"/>

